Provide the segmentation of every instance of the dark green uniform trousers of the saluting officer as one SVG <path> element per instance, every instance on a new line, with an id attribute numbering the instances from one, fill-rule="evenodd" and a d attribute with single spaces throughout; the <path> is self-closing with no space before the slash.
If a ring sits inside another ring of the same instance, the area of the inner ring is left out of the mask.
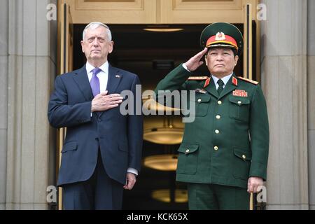
<path id="1" fill-rule="evenodd" d="M 209 183 L 188 183 L 190 210 L 248 210 L 250 194 L 246 188 Z"/>

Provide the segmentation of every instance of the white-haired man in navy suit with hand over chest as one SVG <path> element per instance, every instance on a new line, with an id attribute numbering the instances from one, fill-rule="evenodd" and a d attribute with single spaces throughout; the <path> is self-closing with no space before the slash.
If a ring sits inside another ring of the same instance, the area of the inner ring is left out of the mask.
<path id="1" fill-rule="evenodd" d="M 58 186 L 64 209 L 121 209 L 141 167 L 142 116 L 136 111 L 137 75 L 107 61 L 109 27 L 91 22 L 83 31 L 83 68 L 57 76 L 48 105 L 52 127 L 66 127 Z M 134 111 L 123 116 L 120 92 L 130 90 Z"/>

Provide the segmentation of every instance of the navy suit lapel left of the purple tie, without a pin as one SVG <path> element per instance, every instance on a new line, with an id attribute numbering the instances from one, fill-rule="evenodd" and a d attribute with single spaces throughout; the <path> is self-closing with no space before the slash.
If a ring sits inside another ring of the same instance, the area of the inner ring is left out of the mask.
<path id="1" fill-rule="evenodd" d="M 78 70 L 78 72 L 73 76 L 73 80 L 78 85 L 78 89 L 82 92 L 85 99 L 87 101 L 91 101 L 93 99 L 93 94 L 85 66 Z"/>

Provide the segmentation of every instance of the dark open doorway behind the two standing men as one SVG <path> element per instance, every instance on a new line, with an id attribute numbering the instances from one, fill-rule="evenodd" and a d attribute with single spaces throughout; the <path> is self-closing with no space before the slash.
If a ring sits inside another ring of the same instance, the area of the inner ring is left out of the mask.
<path id="1" fill-rule="evenodd" d="M 73 25 L 73 70 L 84 66 L 86 59 L 80 48 L 85 25 Z M 109 63 L 120 69 L 136 73 L 142 92 L 154 90 L 158 82 L 179 64 L 193 57 L 200 48 L 200 34 L 204 25 L 109 25 L 114 41 L 114 50 Z M 242 31 L 243 25 L 237 25 Z M 153 29 L 155 31 L 147 31 Z M 160 31 L 174 29 L 176 31 Z M 253 29 L 255 30 L 255 29 Z M 254 38 L 255 39 L 255 38 Z M 254 44 L 255 45 L 255 44 Z M 255 60 L 253 60 L 255 62 Z M 242 57 L 235 69 L 242 74 Z M 253 66 L 255 71 L 255 65 Z M 209 76 L 204 64 L 195 71 L 195 76 Z M 180 116 L 144 116 L 144 129 L 161 126 L 166 119 L 174 127 L 183 129 Z M 179 144 L 153 143 L 144 140 L 143 161 L 152 155 L 176 155 Z M 186 184 L 175 181 L 175 171 L 161 171 L 142 165 L 136 186 L 125 191 L 123 209 L 188 209 L 185 199 Z M 164 190 L 164 200 L 155 197 Z M 182 194 L 182 200 L 178 199 Z"/>

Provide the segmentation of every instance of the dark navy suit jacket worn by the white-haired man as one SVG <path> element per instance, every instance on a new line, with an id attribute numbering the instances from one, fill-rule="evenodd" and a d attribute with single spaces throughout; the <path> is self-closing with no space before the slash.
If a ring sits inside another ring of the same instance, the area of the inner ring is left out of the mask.
<path id="1" fill-rule="evenodd" d="M 108 94 L 131 90 L 134 111 L 137 75 L 109 65 Z M 90 179 L 97 165 L 98 150 L 106 173 L 122 184 L 126 183 L 127 168 L 141 167 L 143 118 L 141 115 L 120 113 L 120 106 L 93 113 L 93 99 L 85 66 L 57 76 L 55 91 L 48 105 L 48 119 L 52 127 L 66 127 L 62 148 L 58 186 Z M 131 98 L 130 98 L 131 99 Z"/>

